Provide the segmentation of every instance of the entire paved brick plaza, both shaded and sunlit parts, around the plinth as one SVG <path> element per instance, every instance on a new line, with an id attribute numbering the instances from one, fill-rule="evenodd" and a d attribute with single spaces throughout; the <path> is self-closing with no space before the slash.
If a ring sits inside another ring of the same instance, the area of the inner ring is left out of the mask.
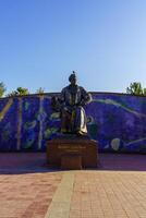
<path id="1" fill-rule="evenodd" d="M 146 156 L 100 154 L 61 171 L 44 153 L 0 154 L 0 218 L 146 218 Z"/>

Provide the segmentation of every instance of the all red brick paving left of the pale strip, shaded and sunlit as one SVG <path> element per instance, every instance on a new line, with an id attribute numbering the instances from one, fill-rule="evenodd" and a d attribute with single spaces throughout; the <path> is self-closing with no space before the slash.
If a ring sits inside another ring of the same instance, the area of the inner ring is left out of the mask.
<path id="1" fill-rule="evenodd" d="M 0 218 L 45 217 L 62 178 L 45 160 L 45 154 L 0 154 Z"/>

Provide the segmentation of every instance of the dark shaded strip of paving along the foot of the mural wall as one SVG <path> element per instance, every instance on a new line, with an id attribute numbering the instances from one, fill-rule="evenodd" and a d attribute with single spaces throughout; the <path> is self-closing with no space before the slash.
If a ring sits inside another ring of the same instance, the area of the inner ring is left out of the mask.
<path id="1" fill-rule="evenodd" d="M 99 154 L 97 169 L 109 171 L 146 171 L 146 156 L 136 154 Z M 0 153 L 0 174 L 46 173 L 62 171 L 46 162 L 46 153 Z"/>

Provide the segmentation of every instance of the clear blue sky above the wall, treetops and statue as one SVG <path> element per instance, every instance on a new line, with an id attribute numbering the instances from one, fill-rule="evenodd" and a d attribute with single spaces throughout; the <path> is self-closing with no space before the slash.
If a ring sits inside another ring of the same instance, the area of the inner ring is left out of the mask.
<path id="1" fill-rule="evenodd" d="M 145 0 L 0 0 L 0 81 L 59 92 L 146 87 Z"/>

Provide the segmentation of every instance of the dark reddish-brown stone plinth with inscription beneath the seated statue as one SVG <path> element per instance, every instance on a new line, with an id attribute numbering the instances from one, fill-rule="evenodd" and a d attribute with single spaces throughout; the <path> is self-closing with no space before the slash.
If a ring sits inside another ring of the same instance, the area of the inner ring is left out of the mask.
<path id="1" fill-rule="evenodd" d="M 62 169 L 96 168 L 97 142 L 83 136 L 57 136 L 47 142 L 47 161 Z"/>

